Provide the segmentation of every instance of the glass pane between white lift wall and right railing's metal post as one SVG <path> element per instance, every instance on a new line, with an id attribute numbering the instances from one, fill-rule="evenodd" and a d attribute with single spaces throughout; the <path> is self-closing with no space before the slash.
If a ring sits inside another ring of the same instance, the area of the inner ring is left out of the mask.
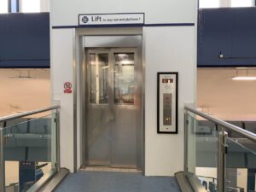
<path id="1" fill-rule="evenodd" d="M 218 129 L 207 119 L 187 113 L 187 170 L 205 189 L 217 190 Z"/>

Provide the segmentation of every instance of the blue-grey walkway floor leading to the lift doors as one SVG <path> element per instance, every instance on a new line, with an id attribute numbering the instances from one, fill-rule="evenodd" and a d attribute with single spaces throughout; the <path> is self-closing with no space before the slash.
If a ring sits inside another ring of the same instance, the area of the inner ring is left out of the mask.
<path id="1" fill-rule="evenodd" d="M 174 177 L 80 171 L 67 176 L 55 192 L 180 192 L 180 189 Z"/>

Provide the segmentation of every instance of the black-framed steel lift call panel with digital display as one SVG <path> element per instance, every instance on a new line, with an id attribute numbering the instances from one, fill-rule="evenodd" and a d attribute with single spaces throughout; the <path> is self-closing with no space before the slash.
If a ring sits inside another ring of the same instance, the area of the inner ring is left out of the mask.
<path id="1" fill-rule="evenodd" d="M 158 73 L 158 133 L 177 133 L 177 73 Z"/>

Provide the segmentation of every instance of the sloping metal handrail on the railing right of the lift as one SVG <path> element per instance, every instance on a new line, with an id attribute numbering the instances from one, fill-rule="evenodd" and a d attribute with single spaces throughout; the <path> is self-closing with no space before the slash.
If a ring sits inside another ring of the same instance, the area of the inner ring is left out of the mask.
<path id="1" fill-rule="evenodd" d="M 229 130 L 229 131 L 235 131 L 236 133 L 240 134 L 243 137 L 246 137 L 247 139 L 253 141 L 254 143 L 256 143 L 256 134 L 251 132 L 251 131 L 247 131 L 244 129 L 241 129 L 241 127 L 236 126 L 236 125 L 232 125 L 230 123 L 225 122 L 224 120 L 220 120 L 220 119 L 215 119 L 205 113 L 201 113 L 200 111 L 195 110 L 194 108 L 189 108 L 189 107 L 184 107 L 186 110 L 195 113 L 201 117 L 203 117 L 204 119 L 208 119 L 210 121 L 212 121 L 215 124 L 221 125 L 223 126 L 225 129 Z"/>

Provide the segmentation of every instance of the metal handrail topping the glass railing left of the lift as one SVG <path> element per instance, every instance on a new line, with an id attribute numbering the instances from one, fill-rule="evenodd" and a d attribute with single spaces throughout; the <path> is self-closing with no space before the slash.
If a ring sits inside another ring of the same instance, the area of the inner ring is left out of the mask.
<path id="1" fill-rule="evenodd" d="M 54 109 L 58 109 L 58 108 L 61 108 L 61 106 L 60 105 L 55 105 L 55 106 L 52 106 L 52 107 L 49 107 L 49 108 L 42 108 L 42 109 L 37 109 L 37 110 L 29 111 L 29 112 L 8 115 L 8 116 L 5 116 L 5 117 L 1 117 L 0 118 L 0 123 L 2 123 L 4 121 L 12 120 L 12 119 L 18 119 L 18 118 L 30 116 L 32 114 L 44 113 L 44 112 L 54 110 Z"/>

